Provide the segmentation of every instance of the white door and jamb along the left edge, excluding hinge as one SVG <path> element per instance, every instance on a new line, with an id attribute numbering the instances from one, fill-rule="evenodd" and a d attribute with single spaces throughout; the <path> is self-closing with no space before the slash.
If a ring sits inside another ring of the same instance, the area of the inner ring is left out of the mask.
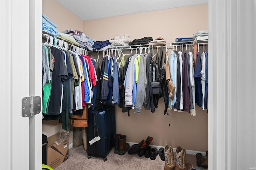
<path id="1" fill-rule="evenodd" d="M 22 98 L 42 97 L 42 0 L 0 0 L 0 169 L 39 170 L 42 113 L 22 117 Z"/>

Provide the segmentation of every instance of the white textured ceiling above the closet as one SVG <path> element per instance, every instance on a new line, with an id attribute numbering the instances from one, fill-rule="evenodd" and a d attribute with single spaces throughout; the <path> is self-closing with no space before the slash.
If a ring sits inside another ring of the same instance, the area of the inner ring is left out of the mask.
<path id="1" fill-rule="evenodd" d="M 182 6 L 206 4 L 208 0 L 56 0 L 81 20 L 94 20 Z"/>

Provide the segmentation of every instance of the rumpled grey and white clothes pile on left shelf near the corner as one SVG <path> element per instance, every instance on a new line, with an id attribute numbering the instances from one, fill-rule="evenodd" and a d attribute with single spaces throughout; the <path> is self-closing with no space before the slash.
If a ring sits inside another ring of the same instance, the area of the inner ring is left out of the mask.
<path id="1" fill-rule="evenodd" d="M 82 31 L 76 31 L 76 30 L 73 30 L 73 29 L 68 31 L 66 29 L 65 31 L 62 31 L 62 33 L 72 35 L 73 38 L 76 40 L 76 42 L 79 43 L 79 45 L 81 47 L 85 47 L 90 51 L 93 50 L 93 48 L 92 48 L 93 40 L 90 37 L 88 37 L 87 35 L 85 35 Z"/>

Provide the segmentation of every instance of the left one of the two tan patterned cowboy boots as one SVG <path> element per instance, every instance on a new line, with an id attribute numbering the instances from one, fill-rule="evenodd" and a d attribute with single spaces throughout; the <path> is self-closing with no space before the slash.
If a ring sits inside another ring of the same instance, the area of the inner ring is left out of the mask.
<path id="1" fill-rule="evenodd" d="M 165 157 L 165 162 L 164 162 L 164 170 L 174 170 L 175 169 L 175 162 L 173 159 L 173 149 L 172 147 L 168 147 L 168 145 L 165 146 L 164 149 L 164 157 Z"/>

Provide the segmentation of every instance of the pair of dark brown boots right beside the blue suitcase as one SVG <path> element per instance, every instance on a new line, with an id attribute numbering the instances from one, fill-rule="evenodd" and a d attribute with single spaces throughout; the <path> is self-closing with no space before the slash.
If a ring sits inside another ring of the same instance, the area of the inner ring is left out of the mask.
<path id="1" fill-rule="evenodd" d="M 126 135 L 114 134 L 114 153 L 124 155 L 130 149 L 130 145 L 126 143 Z"/>

